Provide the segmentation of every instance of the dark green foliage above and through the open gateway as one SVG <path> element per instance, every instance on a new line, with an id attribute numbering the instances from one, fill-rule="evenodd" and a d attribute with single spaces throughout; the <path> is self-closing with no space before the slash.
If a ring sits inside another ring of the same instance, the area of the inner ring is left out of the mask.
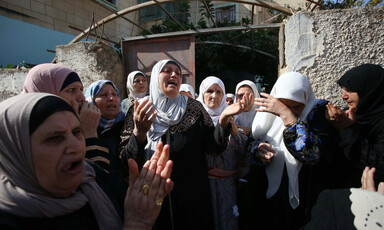
<path id="1" fill-rule="evenodd" d="M 204 0 L 203 0 L 204 1 Z M 211 0 L 205 0 L 211 13 L 214 14 L 214 8 Z M 200 8 L 201 19 L 198 21 L 197 28 L 189 22 L 189 2 L 182 2 L 178 10 L 179 14 L 174 17 L 179 20 L 185 29 L 207 29 L 209 28 L 209 14 L 206 8 Z M 277 12 L 276 12 L 277 14 Z M 184 16 L 182 16 L 184 15 Z M 277 20 L 280 20 L 277 18 Z M 282 20 L 282 19 L 281 19 Z M 246 26 L 251 24 L 248 17 L 242 18 L 240 22 L 222 22 L 216 23 L 218 27 Z M 150 31 L 153 34 L 182 31 L 183 29 L 172 19 L 166 18 L 160 25 L 153 25 Z M 142 35 L 147 35 L 145 31 Z M 262 84 L 271 87 L 277 79 L 278 68 L 278 34 L 276 29 L 250 30 L 250 31 L 226 31 L 221 33 L 203 33 L 197 34 L 195 45 L 195 69 L 196 86 L 200 84 L 203 78 L 214 75 L 222 78 L 227 90 L 233 92 L 236 84 L 243 80 L 240 75 L 254 77 L 262 76 Z M 204 41 L 225 42 L 235 45 L 250 47 L 244 49 L 235 46 L 222 44 L 204 44 Z M 276 58 L 263 55 L 255 50 L 270 53 Z M 229 76 L 228 73 L 233 73 Z M 229 80 L 229 78 L 232 79 Z M 244 78 L 244 77 L 243 77 Z M 249 79 L 254 80 L 254 79 Z M 232 84 L 234 83 L 234 84 Z"/>

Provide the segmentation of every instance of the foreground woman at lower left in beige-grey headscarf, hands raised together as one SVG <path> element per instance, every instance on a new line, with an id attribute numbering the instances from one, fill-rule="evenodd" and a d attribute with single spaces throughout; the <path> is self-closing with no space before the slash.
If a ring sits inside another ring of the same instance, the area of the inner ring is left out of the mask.
<path id="1" fill-rule="evenodd" d="M 161 209 L 156 203 L 172 189 L 168 147 L 159 145 L 140 175 L 129 162 L 125 197 L 110 174 L 84 158 L 77 115 L 55 95 L 1 102 L 0 127 L 7 130 L 0 134 L 1 229 L 151 229 Z M 146 193 L 143 184 L 150 184 Z"/>

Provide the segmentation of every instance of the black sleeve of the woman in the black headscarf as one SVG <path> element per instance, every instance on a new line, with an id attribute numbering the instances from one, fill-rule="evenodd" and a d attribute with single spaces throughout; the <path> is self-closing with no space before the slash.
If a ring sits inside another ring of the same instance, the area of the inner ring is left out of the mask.
<path id="1" fill-rule="evenodd" d="M 363 169 L 365 166 L 375 167 L 375 176 L 384 177 L 384 131 L 377 128 L 372 138 L 364 135 L 363 129 L 356 125 L 340 133 L 340 147 L 345 156 L 354 165 Z"/>

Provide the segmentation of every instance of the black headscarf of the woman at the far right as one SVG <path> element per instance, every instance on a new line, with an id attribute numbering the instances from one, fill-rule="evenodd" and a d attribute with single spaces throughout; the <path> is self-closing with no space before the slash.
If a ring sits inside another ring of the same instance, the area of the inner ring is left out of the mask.
<path id="1" fill-rule="evenodd" d="M 375 126 L 384 118 L 384 69 L 380 65 L 363 64 L 348 70 L 338 81 L 350 91 L 357 92 L 356 123 Z"/>

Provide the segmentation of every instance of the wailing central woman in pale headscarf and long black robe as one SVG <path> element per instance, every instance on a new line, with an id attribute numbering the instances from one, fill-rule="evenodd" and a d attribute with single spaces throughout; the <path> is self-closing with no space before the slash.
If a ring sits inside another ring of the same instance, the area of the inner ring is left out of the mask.
<path id="1" fill-rule="evenodd" d="M 181 73 L 173 60 L 154 65 L 149 96 L 128 110 L 121 156 L 140 165 L 159 141 L 169 144 L 177 186 L 164 201 L 157 229 L 213 229 L 206 156 L 226 148 L 228 121 L 214 126 L 200 102 L 179 94 Z"/>

